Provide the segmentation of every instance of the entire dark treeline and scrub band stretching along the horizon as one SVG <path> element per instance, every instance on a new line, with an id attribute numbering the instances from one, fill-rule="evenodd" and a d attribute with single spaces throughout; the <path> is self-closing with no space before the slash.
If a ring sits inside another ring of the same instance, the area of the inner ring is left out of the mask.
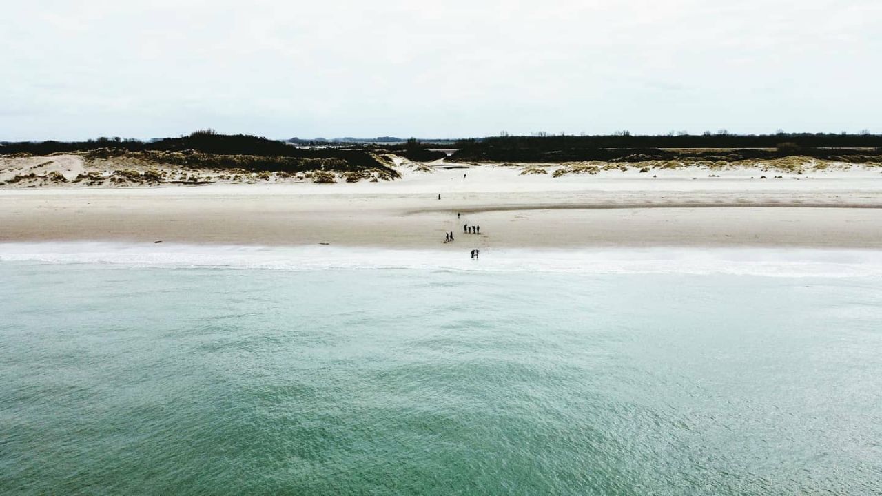
<path id="1" fill-rule="evenodd" d="M 140 152 L 157 156 L 163 153 L 197 152 L 198 160 L 206 155 L 250 155 L 266 160 L 248 159 L 258 164 L 308 162 L 338 163 L 347 169 L 386 168 L 377 160 L 380 154 L 399 154 L 415 162 L 444 158 L 443 152 L 431 151 L 430 143 L 407 139 L 400 144 L 348 144 L 345 146 L 295 147 L 284 141 L 244 134 L 223 135 L 211 130 L 193 132 L 179 138 L 140 141 L 138 139 L 99 138 L 87 141 L 24 141 L 0 142 L 0 154 L 35 154 L 95 152 L 104 156 L 123 152 Z M 865 157 L 882 156 L 882 135 L 878 134 L 811 134 L 784 133 L 736 135 L 729 133 L 703 135 L 632 136 L 627 132 L 609 136 L 503 136 L 484 139 L 460 139 L 458 151 L 448 159 L 452 162 L 578 162 L 587 160 L 638 162 L 642 160 L 676 160 L 690 157 L 701 160 L 764 159 L 792 155 L 858 162 Z M 108 152 L 110 151 L 110 152 Z M 272 160 L 269 157 L 273 157 Z M 284 158 L 285 160 L 280 160 Z M 182 159 L 183 160 L 183 159 Z M 192 159 L 196 161 L 194 157 Z M 331 162 L 329 162 L 331 161 Z M 243 162 L 227 158 L 212 162 Z M 279 167 L 278 165 L 276 167 Z"/>

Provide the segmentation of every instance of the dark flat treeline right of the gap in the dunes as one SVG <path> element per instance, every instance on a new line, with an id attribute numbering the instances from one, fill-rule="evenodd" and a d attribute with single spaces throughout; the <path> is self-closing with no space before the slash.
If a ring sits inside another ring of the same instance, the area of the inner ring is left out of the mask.
<path id="1" fill-rule="evenodd" d="M 809 155 L 837 158 L 882 154 L 882 135 L 778 133 L 700 136 L 504 136 L 464 139 L 452 161 L 573 162 L 673 160 L 684 155 L 719 160 Z"/>

